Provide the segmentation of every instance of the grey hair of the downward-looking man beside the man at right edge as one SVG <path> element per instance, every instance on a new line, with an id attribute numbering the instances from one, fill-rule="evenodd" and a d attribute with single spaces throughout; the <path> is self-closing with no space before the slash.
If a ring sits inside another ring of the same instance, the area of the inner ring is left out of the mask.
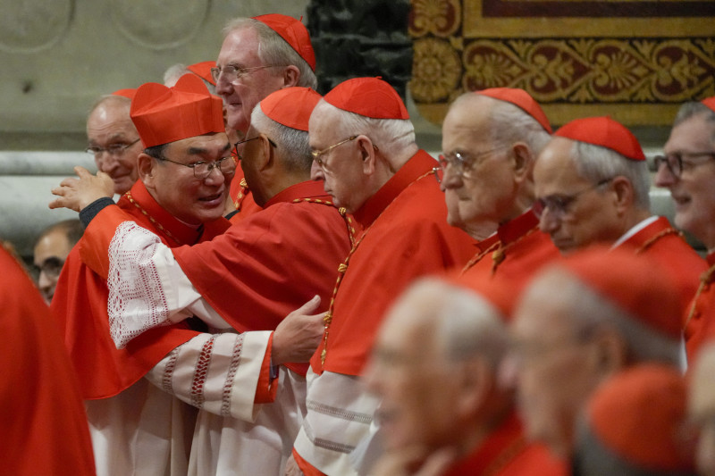
<path id="1" fill-rule="evenodd" d="M 633 185 L 635 206 L 643 210 L 651 209 L 651 176 L 648 163 L 627 159 L 608 147 L 580 141 L 574 141 L 570 155 L 578 175 L 585 180 L 595 184 L 601 180 L 623 176 Z"/>

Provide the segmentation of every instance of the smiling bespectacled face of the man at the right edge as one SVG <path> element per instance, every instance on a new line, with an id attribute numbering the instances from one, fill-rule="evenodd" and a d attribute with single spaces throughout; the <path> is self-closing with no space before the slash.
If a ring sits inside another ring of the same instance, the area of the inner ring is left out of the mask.
<path id="1" fill-rule="evenodd" d="M 661 165 L 655 184 L 669 188 L 676 225 L 711 248 L 715 246 L 715 126 L 705 117 L 695 115 L 671 130 L 663 151 L 681 155 L 683 171 L 678 178 Z"/>

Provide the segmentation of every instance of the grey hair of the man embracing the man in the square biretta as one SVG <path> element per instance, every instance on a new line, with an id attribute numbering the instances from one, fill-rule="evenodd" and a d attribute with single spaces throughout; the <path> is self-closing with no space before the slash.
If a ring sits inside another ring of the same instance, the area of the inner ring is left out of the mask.
<path id="1" fill-rule="evenodd" d="M 263 113 L 260 103 L 256 104 L 251 113 L 251 129 L 264 133 L 273 140 L 281 150 L 281 160 L 288 171 L 310 171 L 313 157 L 310 155 L 310 144 L 305 130 L 293 129 L 273 121 Z"/>

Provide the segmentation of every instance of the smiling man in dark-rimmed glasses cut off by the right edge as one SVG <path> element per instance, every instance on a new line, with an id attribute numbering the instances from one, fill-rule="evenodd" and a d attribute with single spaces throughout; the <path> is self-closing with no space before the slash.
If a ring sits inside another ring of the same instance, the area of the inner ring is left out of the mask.
<path id="1" fill-rule="evenodd" d="M 715 321 L 715 96 L 683 104 L 676 115 L 664 157 L 656 159 L 655 184 L 670 190 L 676 225 L 702 241 L 710 270 L 695 278 L 697 296 L 686 309 L 687 355 L 694 358 Z"/>

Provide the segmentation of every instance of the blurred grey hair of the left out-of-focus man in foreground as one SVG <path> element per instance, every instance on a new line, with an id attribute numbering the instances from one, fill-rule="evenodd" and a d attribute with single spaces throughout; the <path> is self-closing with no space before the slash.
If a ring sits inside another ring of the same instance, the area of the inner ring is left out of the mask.
<path id="1" fill-rule="evenodd" d="M 417 280 L 410 293 L 439 296 L 434 333 L 446 358 L 458 361 L 480 356 L 497 371 L 509 348 L 509 334 L 491 303 L 476 291 L 437 278 Z"/>

